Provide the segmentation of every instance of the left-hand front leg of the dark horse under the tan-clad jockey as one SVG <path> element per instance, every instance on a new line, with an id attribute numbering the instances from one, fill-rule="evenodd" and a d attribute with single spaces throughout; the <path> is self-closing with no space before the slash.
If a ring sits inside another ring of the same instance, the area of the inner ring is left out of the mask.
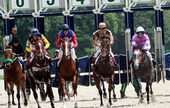
<path id="1" fill-rule="evenodd" d="M 94 80 L 95 80 L 96 87 L 97 87 L 98 92 L 99 92 L 99 95 L 100 95 L 100 106 L 103 106 L 103 97 L 102 97 L 102 89 L 101 89 L 101 87 L 100 87 L 100 79 L 97 78 L 97 77 L 94 75 Z"/>

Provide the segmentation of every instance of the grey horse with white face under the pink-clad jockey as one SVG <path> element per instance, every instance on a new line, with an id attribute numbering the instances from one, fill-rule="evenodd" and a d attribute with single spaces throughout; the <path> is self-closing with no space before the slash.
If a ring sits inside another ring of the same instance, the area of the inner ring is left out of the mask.
<path id="1" fill-rule="evenodd" d="M 149 93 L 151 94 L 153 99 L 152 91 L 152 82 L 154 78 L 153 64 L 149 56 L 147 56 L 146 52 L 141 48 L 134 49 L 134 53 L 132 56 L 132 68 L 134 79 L 138 80 L 139 83 L 141 82 L 141 80 L 146 82 L 147 103 L 149 104 Z M 142 86 L 141 84 L 139 85 L 140 85 L 139 102 L 142 103 L 144 98 L 142 93 Z"/>

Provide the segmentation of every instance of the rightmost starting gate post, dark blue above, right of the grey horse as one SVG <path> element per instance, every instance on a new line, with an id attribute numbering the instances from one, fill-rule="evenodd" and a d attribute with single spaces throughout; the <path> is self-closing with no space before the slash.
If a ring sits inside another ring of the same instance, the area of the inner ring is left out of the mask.
<path id="1" fill-rule="evenodd" d="M 159 82 L 159 76 L 165 82 L 165 41 L 164 41 L 164 19 L 161 3 L 156 2 L 155 9 L 155 59 L 156 59 L 156 81 Z M 159 74 L 159 72 L 161 72 Z"/>

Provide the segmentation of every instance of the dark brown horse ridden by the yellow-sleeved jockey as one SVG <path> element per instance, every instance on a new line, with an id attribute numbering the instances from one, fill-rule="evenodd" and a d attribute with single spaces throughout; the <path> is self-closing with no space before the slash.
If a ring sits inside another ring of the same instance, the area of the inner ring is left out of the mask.
<path id="1" fill-rule="evenodd" d="M 54 95 L 51 87 L 51 78 L 49 73 L 49 64 L 51 59 L 46 56 L 44 44 L 41 40 L 37 40 L 34 44 L 35 51 L 33 52 L 33 59 L 29 62 L 28 77 L 30 80 L 30 87 L 33 91 L 34 98 L 37 102 L 38 108 L 41 108 L 38 101 L 38 95 L 36 88 L 40 89 L 40 96 L 43 101 L 46 100 L 48 95 L 51 103 L 51 107 L 54 107 Z M 44 84 L 46 85 L 46 92 L 44 90 Z"/>

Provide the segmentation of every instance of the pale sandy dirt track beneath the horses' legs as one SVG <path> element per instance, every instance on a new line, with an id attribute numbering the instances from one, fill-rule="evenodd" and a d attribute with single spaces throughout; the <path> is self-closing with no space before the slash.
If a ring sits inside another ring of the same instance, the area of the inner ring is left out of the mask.
<path id="1" fill-rule="evenodd" d="M 3 89 L 3 81 L 0 80 L 0 108 L 7 108 L 7 93 Z M 144 87 L 144 84 L 143 84 Z M 127 87 L 126 95 L 127 98 L 120 99 L 120 85 L 116 86 L 116 94 L 118 97 L 118 101 L 114 102 L 111 108 L 170 108 L 170 81 L 166 81 L 165 84 L 162 82 L 160 83 L 154 83 L 153 84 L 153 90 L 155 94 L 155 102 L 151 102 L 149 105 L 146 104 L 146 98 L 145 102 L 143 104 L 138 104 L 138 98 L 136 97 L 136 94 L 134 92 L 134 89 L 132 85 L 130 84 Z M 63 103 L 58 101 L 58 92 L 57 88 L 53 88 L 53 92 L 55 95 L 55 107 L 56 108 L 63 108 Z M 100 107 L 100 100 L 98 91 L 95 86 L 79 86 L 78 88 L 78 107 L 79 108 L 98 108 Z M 17 103 L 17 99 L 15 99 L 15 102 Z M 70 102 L 66 102 L 65 108 L 73 108 L 73 100 Z M 107 100 L 105 100 L 105 107 L 106 107 Z M 51 108 L 49 100 L 46 102 L 40 102 L 40 105 L 42 108 Z M 37 105 L 34 101 L 33 96 L 31 96 L 31 99 L 29 100 L 29 104 L 27 107 L 23 108 L 37 108 Z M 17 108 L 17 106 L 12 106 L 12 108 Z"/>

